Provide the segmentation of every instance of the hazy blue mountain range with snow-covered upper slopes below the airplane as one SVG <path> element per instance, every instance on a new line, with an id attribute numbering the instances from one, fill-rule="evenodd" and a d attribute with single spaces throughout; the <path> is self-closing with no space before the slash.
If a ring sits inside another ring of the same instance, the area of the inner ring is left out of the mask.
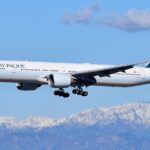
<path id="1" fill-rule="evenodd" d="M 61 119 L 0 117 L 0 150 L 150 150 L 150 103 Z"/>

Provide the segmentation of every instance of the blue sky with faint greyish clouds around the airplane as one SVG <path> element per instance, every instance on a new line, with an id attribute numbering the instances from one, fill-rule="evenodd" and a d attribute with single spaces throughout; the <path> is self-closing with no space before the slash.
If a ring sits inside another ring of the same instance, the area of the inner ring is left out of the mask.
<path id="1" fill-rule="evenodd" d="M 1 1 L 0 59 L 98 64 L 150 60 L 149 20 L 147 0 Z M 87 108 L 150 101 L 149 89 L 89 87 L 88 97 L 64 100 L 48 86 L 20 92 L 15 84 L 1 83 L 0 115 L 63 117 Z"/>

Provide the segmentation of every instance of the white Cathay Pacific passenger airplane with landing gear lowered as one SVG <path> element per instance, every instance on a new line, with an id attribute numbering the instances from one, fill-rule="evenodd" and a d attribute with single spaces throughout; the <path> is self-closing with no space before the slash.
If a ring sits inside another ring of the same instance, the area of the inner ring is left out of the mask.
<path id="1" fill-rule="evenodd" d="M 137 65 L 147 63 L 145 67 Z M 64 88 L 72 93 L 88 96 L 83 87 L 131 87 L 150 83 L 150 62 L 127 65 L 98 65 L 48 63 L 29 61 L 0 61 L 0 82 L 16 83 L 22 91 L 36 90 L 42 85 L 57 88 L 55 96 L 68 98 Z"/>

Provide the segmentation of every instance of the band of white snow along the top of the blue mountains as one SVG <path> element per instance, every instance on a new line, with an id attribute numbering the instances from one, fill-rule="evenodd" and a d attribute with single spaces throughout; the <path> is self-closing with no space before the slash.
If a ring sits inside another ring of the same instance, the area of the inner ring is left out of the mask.
<path id="1" fill-rule="evenodd" d="M 0 117 L 0 125 L 4 125 L 7 128 L 44 128 L 71 123 L 79 123 L 87 126 L 94 124 L 109 125 L 115 123 L 117 120 L 134 122 L 150 127 L 150 103 L 131 103 L 108 108 L 85 110 L 61 119 L 31 116 L 24 120 L 17 120 L 12 117 Z"/>

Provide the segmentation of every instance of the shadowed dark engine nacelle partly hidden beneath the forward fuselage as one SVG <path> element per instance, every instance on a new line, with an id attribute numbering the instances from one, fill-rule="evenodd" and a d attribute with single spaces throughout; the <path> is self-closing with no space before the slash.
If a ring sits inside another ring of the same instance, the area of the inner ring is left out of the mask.
<path id="1" fill-rule="evenodd" d="M 29 83 L 17 83 L 16 85 L 17 89 L 22 90 L 22 91 L 33 91 L 33 90 L 36 90 L 40 86 L 41 85 L 29 84 Z"/>

